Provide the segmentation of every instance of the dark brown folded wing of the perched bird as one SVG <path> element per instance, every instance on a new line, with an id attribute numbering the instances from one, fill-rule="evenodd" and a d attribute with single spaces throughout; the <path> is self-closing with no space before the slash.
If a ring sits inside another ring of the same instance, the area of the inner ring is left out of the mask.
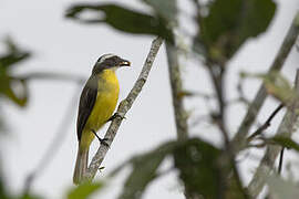
<path id="1" fill-rule="evenodd" d="M 97 78 L 95 76 L 91 76 L 86 82 L 80 97 L 79 113 L 76 119 L 78 140 L 81 139 L 83 128 L 85 127 L 85 124 L 95 104 L 96 95 L 97 95 Z"/>

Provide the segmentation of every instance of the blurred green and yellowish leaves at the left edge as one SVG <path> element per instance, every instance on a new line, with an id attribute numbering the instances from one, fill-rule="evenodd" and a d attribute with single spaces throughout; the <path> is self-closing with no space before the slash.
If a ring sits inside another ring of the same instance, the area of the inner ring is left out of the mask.
<path id="1" fill-rule="evenodd" d="M 23 107 L 28 100 L 27 81 L 11 74 L 12 67 L 30 56 L 28 51 L 20 50 L 10 39 L 7 40 L 8 53 L 0 55 L 0 97 Z"/>

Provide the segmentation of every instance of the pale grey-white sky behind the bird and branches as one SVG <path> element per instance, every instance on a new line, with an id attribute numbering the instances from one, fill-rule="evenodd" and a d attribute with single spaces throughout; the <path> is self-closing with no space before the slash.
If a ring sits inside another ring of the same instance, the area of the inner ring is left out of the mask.
<path id="1" fill-rule="evenodd" d="M 120 100 L 124 98 L 135 82 L 145 56 L 153 40 L 152 36 L 130 35 L 107 25 L 82 25 L 63 18 L 64 10 L 71 0 L 2 0 L 0 6 L 0 40 L 10 35 L 23 49 L 33 52 L 32 59 L 18 66 L 18 73 L 30 72 L 61 72 L 81 75 L 87 78 L 94 62 L 103 53 L 113 52 L 132 62 L 131 69 L 122 69 L 117 73 L 121 83 Z M 138 1 L 116 1 L 123 3 L 137 3 Z M 190 4 L 181 1 L 181 8 L 192 10 Z M 143 8 L 134 4 L 135 8 Z M 238 72 L 266 72 L 276 55 L 282 39 L 290 25 L 291 19 L 299 9 L 298 0 L 279 0 L 275 19 L 266 34 L 256 40 L 248 41 L 241 51 L 231 60 L 227 76 L 228 98 L 236 96 L 236 82 Z M 188 13 L 184 10 L 184 13 Z M 184 15 L 188 21 L 188 15 Z M 186 24 L 192 28 L 192 23 Z M 193 30 L 190 30 L 192 32 Z M 0 48 L 0 50 L 2 46 Z M 197 66 L 198 62 L 189 57 L 182 59 L 182 67 L 185 87 L 210 93 L 209 78 L 205 71 Z M 299 66 L 298 52 L 291 52 L 287 65 L 283 69 L 290 81 L 295 77 L 295 71 Z M 197 64 L 197 65 L 196 65 Z M 99 179 L 109 174 L 132 155 L 147 151 L 162 143 L 176 136 L 173 107 L 171 104 L 171 91 L 167 76 L 167 63 L 164 46 L 161 49 L 148 82 L 141 95 L 128 112 L 126 118 L 111 146 L 103 163 L 105 167 Z M 39 164 L 48 146 L 51 144 L 59 125 L 65 117 L 65 109 L 73 96 L 80 96 L 76 85 L 70 82 L 32 81 L 30 82 L 30 98 L 25 108 L 21 109 L 11 103 L 3 102 L 2 109 L 9 127 L 9 134 L 1 138 L 1 155 L 4 176 L 12 192 L 19 192 L 23 188 L 25 176 Z M 247 95 L 252 98 L 259 86 L 258 81 L 246 84 Z M 259 115 L 265 121 L 276 106 L 275 100 L 267 101 L 267 105 Z M 213 105 L 212 105 L 213 106 Z M 190 121 L 198 115 L 207 113 L 207 106 L 200 98 L 186 101 L 186 107 L 190 111 Z M 73 167 L 76 156 L 75 119 L 76 105 L 73 107 L 71 125 L 64 133 L 62 145 L 53 160 L 41 172 L 33 184 L 33 191 L 49 199 L 61 198 L 66 188 L 72 187 Z M 229 127 L 234 133 L 245 114 L 244 106 L 237 105 L 229 108 Z M 274 132 L 279 124 L 280 114 L 269 132 Z M 104 129 L 100 132 L 103 136 Z M 220 144 L 220 137 L 214 127 L 202 124 L 190 128 L 193 136 L 200 136 Z M 299 136 L 297 136 L 299 137 Z M 93 143 L 91 154 L 99 146 Z M 255 157 L 260 157 L 260 151 L 252 151 Z M 289 153 L 290 154 L 290 153 Z M 290 157 L 287 154 L 287 157 Z M 297 163 L 299 163 L 297 160 Z M 167 167 L 165 163 L 165 167 Z M 257 161 L 248 160 L 240 165 L 246 182 L 250 179 Z M 121 177 L 109 182 L 109 187 L 101 192 L 105 199 L 117 196 L 123 179 L 128 169 Z M 94 197 L 96 198 L 96 197 Z M 144 196 L 145 199 L 172 198 L 183 199 L 182 188 L 176 182 L 176 175 L 171 174 L 151 185 Z"/>

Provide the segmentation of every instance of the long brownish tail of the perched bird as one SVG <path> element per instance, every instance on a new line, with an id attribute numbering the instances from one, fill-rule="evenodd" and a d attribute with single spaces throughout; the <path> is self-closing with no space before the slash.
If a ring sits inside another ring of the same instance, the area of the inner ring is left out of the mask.
<path id="1" fill-rule="evenodd" d="M 75 169 L 73 176 L 73 182 L 79 185 L 83 181 L 83 175 L 87 169 L 89 161 L 89 148 L 80 148 L 78 149 Z"/>

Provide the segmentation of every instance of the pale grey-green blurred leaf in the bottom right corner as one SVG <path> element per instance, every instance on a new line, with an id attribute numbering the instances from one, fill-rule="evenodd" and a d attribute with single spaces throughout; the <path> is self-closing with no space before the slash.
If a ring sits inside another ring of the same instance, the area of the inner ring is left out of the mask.
<path id="1" fill-rule="evenodd" d="M 280 176 L 271 175 L 268 177 L 267 184 L 272 198 L 297 199 L 299 196 L 298 185 L 285 180 Z"/>

